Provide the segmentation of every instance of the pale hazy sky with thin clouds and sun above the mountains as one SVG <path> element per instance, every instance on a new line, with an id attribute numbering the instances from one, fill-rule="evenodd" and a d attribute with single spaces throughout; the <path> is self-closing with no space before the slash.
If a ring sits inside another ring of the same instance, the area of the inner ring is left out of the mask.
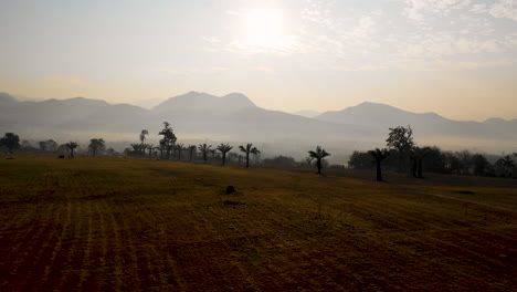
<path id="1" fill-rule="evenodd" d="M 1 0 L 0 92 L 517 118 L 517 0 Z"/>

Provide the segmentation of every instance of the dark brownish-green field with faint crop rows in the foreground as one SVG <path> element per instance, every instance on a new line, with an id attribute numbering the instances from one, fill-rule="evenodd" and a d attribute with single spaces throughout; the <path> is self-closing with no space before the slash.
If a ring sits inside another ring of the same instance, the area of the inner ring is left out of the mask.
<path id="1" fill-rule="evenodd" d="M 7 158 L 0 291 L 517 290 L 515 179 Z"/>

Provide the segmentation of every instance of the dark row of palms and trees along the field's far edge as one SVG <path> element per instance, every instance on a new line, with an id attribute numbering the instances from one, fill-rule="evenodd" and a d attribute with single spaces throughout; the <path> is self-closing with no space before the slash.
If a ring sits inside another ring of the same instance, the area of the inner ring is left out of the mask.
<path id="1" fill-rule="evenodd" d="M 131 143 L 130 147 L 124 150 L 124 154 L 159 159 L 220 161 L 223 166 L 228 161 L 245 163 L 246 168 L 254 159 L 256 164 L 271 166 L 316 167 L 317 174 L 321 174 L 321 169 L 325 167 L 336 167 L 336 165 L 330 166 L 325 159 L 330 154 L 321 146 L 317 146 L 315 150 L 309 150 L 308 156 L 302 161 L 296 161 L 293 157 L 283 155 L 261 159 L 261 152 L 252 143 L 240 145 L 236 148 L 239 149 L 238 153 L 231 152 L 234 147 L 229 143 L 221 143 L 217 146 L 207 143 L 199 145 L 178 143 L 178 138 L 168 122 L 163 122 L 163 128 L 158 133 L 161 138 L 157 145 L 147 143 L 148 135 L 149 131 L 143 129 L 138 135 L 138 142 Z M 67 154 L 70 158 L 74 157 L 74 152 L 80 145 L 76 142 L 60 145 L 53 139 L 48 139 L 39 142 L 38 146 L 39 148 L 33 147 L 28 140 L 20 143 L 20 137 L 14 133 L 6 133 L 0 138 L 0 148 L 4 148 L 9 153 L 22 148 L 28 152 Z M 87 154 L 91 156 L 99 154 L 118 155 L 113 148 L 106 149 L 106 143 L 103 138 L 92 138 L 87 149 Z M 424 173 L 513 177 L 517 173 L 513 156 L 517 157 L 517 153 L 499 157 L 494 164 L 490 164 L 485 155 L 479 153 L 473 154 L 468 150 L 444 152 L 436 146 L 418 146 L 413 140 L 411 126 L 398 126 L 389 128 L 386 147 L 367 152 L 354 152 L 348 160 L 348 167 L 351 169 L 376 169 L 377 180 L 382 180 L 382 169 L 408 173 L 415 178 L 423 178 Z"/>

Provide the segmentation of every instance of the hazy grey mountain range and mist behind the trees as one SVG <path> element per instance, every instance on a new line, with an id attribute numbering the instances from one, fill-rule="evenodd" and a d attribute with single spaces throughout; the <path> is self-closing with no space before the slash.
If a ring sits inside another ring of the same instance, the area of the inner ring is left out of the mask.
<path id="1" fill-rule="evenodd" d="M 253 142 L 291 155 L 306 154 L 306 148 L 315 145 L 348 152 L 383 147 L 388 128 L 399 125 L 411 125 L 419 145 L 444 149 L 499 153 L 515 150 L 517 145 L 517 119 L 453 121 L 435 113 L 410 113 L 368 102 L 313 118 L 300 114 L 258 107 L 240 93 L 218 97 L 189 92 L 150 109 L 84 97 L 18 101 L 0 93 L 0 133 L 15 132 L 22 138 L 87 139 L 104 135 L 108 142 L 128 137 L 136 140 L 143 128 L 157 134 L 162 122 L 168 121 L 179 139 Z"/>

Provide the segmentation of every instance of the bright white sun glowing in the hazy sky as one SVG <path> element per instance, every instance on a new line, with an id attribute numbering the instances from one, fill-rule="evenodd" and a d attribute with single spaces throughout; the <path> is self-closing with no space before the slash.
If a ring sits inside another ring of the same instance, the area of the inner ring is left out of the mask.
<path id="1" fill-rule="evenodd" d="M 242 14 L 243 44 L 251 49 L 283 50 L 289 46 L 285 17 L 278 8 L 253 8 Z"/>

